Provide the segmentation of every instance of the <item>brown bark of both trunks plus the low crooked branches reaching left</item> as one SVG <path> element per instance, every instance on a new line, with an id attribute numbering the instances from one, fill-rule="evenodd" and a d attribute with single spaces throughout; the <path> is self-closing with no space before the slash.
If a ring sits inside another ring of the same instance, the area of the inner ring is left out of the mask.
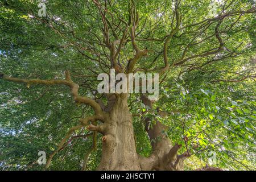
<path id="1" fill-rule="evenodd" d="M 106 94 L 108 105 L 105 106 L 102 101 L 94 101 L 87 97 L 81 97 L 78 94 L 79 85 L 71 80 L 69 72 L 66 72 L 65 80 L 39 80 L 39 79 L 20 79 L 13 78 L 0 73 L 0 78 L 7 81 L 22 82 L 28 85 L 45 84 L 45 85 L 67 85 L 71 88 L 71 93 L 75 102 L 84 103 L 92 106 L 95 115 L 81 118 L 80 125 L 72 127 L 68 134 L 61 140 L 58 148 L 52 153 L 47 161 L 46 168 L 51 163 L 53 156 L 65 146 L 65 142 L 71 137 L 72 133 L 81 127 L 88 126 L 91 131 L 97 131 L 104 135 L 102 137 L 102 156 L 98 170 L 183 170 L 183 160 L 190 155 L 188 151 L 184 154 L 177 155 L 179 148 L 178 144 L 172 145 L 170 139 L 164 132 L 168 129 L 167 126 L 155 119 L 150 127 L 152 119 L 145 118 L 144 125 L 147 131 L 148 138 L 151 141 L 152 154 L 148 158 L 138 156 L 135 146 L 133 117 L 127 106 L 127 98 L 129 94 Z M 142 95 L 141 100 L 144 105 L 152 110 L 153 102 Z M 166 115 L 165 112 L 158 110 L 161 117 Z M 154 118 L 153 118 L 154 119 Z M 102 122 L 97 125 L 96 121 Z M 87 158 L 87 156 L 85 156 Z M 84 163 L 84 168 L 86 160 Z M 219 170 L 218 168 L 205 167 L 197 169 L 201 171 Z"/>

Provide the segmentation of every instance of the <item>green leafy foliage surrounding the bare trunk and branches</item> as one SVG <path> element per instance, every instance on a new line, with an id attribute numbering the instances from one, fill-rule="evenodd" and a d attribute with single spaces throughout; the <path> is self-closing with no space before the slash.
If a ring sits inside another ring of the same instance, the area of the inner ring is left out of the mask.
<path id="1" fill-rule="evenodd" d="M 114 1 L 108 9 L 113 14 L 113 17 L 108 15 L 109 19 L 122 18 L 128 22 L 128 2 Z M 161 40 L 170 34 L 174 18 L 171 0 L 135 2 L 141 17 L 138 39 L 147 39 L 150 35 L 152 39 Z M 208 14 L 210 2 L 181 1 L 181 26 L 213 18 Z M 221 14 L 222 1 L 214 2 L 217 3 L 217 13 Z M 13 77 L 61 79 L 64 71 L 69 70 L 73 80 L 80 85 L 80 94 L 93 98 L 98 84 L 97 74 L 108 72 L 106 65 L 110 64 L 106 61 L 108 56 L 104 55 L 104 52 L 109 54 L 108 49 L 99 43 L 103 34 L 97 7 L 91 1 L 49 0 L 47 16 L 40 18 L 38 3 L 32 0 L 0 2 L 0 72 Z M 253 1 L 234 1 L 227 11 L 247 10 L 253 6 Z M 238 17 L 224 19 L 220 31 L 230 27 Z M 218 40 L 211 36 L 217 23 L 212 22 L 200 36 L 197 36 L 198 27 L 177 32 L 169 45 L 170 63 L 180 59 L 190 42 L 195 46 L 189 48 L 187 57 L 218 47 Z M 113 33 L 110 35 L 113 41 Z M 131 113 L 141 116 L 146 113 L 142 117 L 157 118 L 169 126 L 164 134 L 173 144 L 182 144 L 180 152 L 186 150 L 187 144 L 193 154 L 185 160 L 185 168 L 189 170 L 209 163 L 210 151 L 216 152 L 217 163 L 214 165 L 217 167 L 256 169 L 255 80 L 243 79 L 255 72 L 255 14 L 241 16 L 239 22 L 221 36 L 225 40 L 224 51 L 196 57 L 164 75 L 154 113 L 147 113 L 148 107 L 141 104 L 137 94 L 131 94 L 128 103 Z M 204 39 L 207 41 L 198 43 Z M 148 56 L 139 60 L 136 68 L 154 71 L 154 68 L 164 67 L 163 42 L 158 40 L 137 42 L 138 47 L 148 49 Z M 98 55 L 86 51 L 88 49 L 100 52 L 102 65 L 93 61 L 99 59 Z M 225 57 L 230 53 L 232 56 Z M 119 60 L 126 65 L 133 56 L 131 42 L 127 42 Z M 81 75 L 89 77 L 79 77 Z M 36 163 L 38 151 L 46 151 L 49 156 L 68 129 L 77 125 L 79 118 L 93 114 L 88 106 L 73 103 L 64 86 L 26 86 L 2 80 L 0 84 L 0 169 L 42 170 L 43 166 Z M 157 107 L 168 111 L 168 117 L 159 117 Z M 137 152 L 149 156 L 152 141 L 147 137 L 144 123 L 140 117 L 134 117 L 133 122 Z M 150 127 L 153 125 L 154 119 Z M 76 134 L 88 133 L 82 129 Z M 97 150 L 90 155 L 87 169 L 94 170 L 100 163 L 100 137 L 99 134 Z M 186 143 L 184 137 L 189 139 Z M 91 138 L 73 139 L 56 154 L 49 169 L 80 170 L 91 146 Z"/>

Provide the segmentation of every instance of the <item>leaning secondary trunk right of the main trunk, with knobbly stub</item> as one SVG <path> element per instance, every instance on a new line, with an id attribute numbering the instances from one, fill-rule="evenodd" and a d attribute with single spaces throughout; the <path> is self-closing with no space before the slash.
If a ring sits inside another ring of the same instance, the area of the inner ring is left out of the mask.
<path id="1" fill-rule="evenodd" d="M 144 105 L 147 105 L 152 109 L 153 102 L 142 95 L 141 100 Z M 158 111 L 161 117 L 166 115 L 165 112 Z M 167 126 L 160 123 L 157 119 L 154 119 L 154 123 L 150 127 L 150 123 L 153 122 L 150 118 L 145 118 L 145 130 L 148 137 L 151 140 L 152 154 L 149 158 L 140 157 L 140 163 L 142 170 L 161 170 L 161 171 L 180 171 L 183 170 L 183 160 L 188 157 L 187 152 L 181 155 L 177 155 L 177 152 L 181 146 L 175 144 L 172 145 L 171 140 L 167 137 Z"/>

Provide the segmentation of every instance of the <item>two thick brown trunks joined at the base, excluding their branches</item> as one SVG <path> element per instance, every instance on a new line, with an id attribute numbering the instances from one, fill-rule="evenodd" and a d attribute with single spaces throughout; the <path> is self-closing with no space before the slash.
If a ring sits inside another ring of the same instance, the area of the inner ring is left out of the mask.
<path id="1" fill-rule="evenodd" d="M 150 119 L 145 120 L 145 130 L 152 145 L 149 158 L 138 156 L 135 147 L 133 118 L 127 107 L 127 94 L 109 94 L 108 106 L 101 103 L 102 110 L 108 113 L 104 123 L 96 127 L 102 137 L 102 156 L 98 170 L 182 170 L 185 154 L 177 155 L 180 146 L 172 146 L 164 135 L 167 129 L 159 121 L 148 127 Z M 152 102 L 142 97 L 145 105 L 152 108 Z M 162 113 L 159 112 L 161 115 Z"/>

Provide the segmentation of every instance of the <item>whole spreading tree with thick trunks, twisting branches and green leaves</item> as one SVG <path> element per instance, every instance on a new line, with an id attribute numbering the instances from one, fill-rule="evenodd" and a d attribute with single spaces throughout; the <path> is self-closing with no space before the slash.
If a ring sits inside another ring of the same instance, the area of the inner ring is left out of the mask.
<path id="1" fill-rule="evenodd" d="M 2 169 L 255 169 L 253 1 L 0 5 Z M 110 69 L 158 100 L 98 93 Z"/>

